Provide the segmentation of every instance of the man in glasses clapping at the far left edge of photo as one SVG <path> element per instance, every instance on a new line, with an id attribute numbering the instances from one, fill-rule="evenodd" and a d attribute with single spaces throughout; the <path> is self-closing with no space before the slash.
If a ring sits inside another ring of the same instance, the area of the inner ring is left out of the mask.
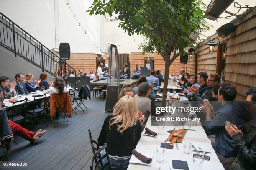
<path id="1" fill-rule="evenodd" d="M 10 85 L 10 87 L 8 87 Z M 0 92 L 7 92 L 7 99 L 10 99 L 10 97 L 13 97 L 16 95 L 16 81 L 9 82 L 9 78 L 2 76 L 0 77 Z"/>

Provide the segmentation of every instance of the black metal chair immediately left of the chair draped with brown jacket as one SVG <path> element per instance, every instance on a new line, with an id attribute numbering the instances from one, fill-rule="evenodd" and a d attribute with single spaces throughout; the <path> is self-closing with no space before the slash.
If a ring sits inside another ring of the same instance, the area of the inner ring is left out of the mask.
<path id="1" fill-rule="evenodd" d="M 27 117 L 28 120 L 29 120 L 28 123 L 31 124 L 33 126 L 33 128 L 36 129 L 36 126 L 33 124 L 32 120 L 36 117 L 36 115 L 38 115 L 37 116 L 38 120 L 41 120 L 44 123 L 44 125 L 48 128 L 48 126 L 46 125 L 46 123 L 42 119 L 42 112 L 44 112 L 44 105 L 45 105 L 45 102 L 46 102 L 46 94 L 33 95 L 32 97 L 34 97 L 33 109 L 27 110 L 27 114 L 31 115 L 32 117 L 31 118 Z M 36 131 L 37 131 L 37 129 L 36 129 Z"/>

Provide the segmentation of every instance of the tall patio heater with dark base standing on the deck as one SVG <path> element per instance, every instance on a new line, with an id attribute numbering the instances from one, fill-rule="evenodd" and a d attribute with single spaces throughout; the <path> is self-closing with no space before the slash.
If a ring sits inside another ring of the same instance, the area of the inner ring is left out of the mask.
<path id="1" fill-rule="evenodd" d="M 108 60 L 108 80 L 105 112 L 113 112 L 113 107 L 118 101 L 118 95 L 121 90 L 117 51 L 117 46 L 120 45 L 113 42 L 106 43 L 110 44 L 110 50 Z"/>

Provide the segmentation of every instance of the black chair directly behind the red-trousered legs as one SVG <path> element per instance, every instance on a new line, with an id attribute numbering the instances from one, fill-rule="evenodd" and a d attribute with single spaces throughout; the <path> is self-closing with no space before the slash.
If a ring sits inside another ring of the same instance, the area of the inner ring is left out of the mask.
<path id="1" fill-rule="evenodd" d="M 11 120 L 20 125 L 20 122 L 25 119 L 25 117 L 22 115 L 22 112 L 25 111 L 26 113 L 27 102 L 27 98 L 17 102 L 13 102 L 13 107 L 11 108 L 12 114 L 8 115 L 8 120 Z M 9 114 L 9 112 L 7 114 Z M 14 142 L 16 143 L 16 145 L 18 145 L 15 139 Z"/>

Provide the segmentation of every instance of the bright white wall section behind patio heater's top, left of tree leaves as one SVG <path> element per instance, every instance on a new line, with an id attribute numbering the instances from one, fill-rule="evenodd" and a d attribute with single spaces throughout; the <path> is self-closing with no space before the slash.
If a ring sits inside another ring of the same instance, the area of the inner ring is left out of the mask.
<path id="1" fill-rule="evenodd" d="M 102 47 L 109 51 L 109 45 L 105 42 L 115 42 L 122 46 L 118 46 L 118 53 L 142 52 L 138 50 L 138 43 L 143 42 L 142 36 L 129 36 L 123 29 L 118 27 L 120 21 L 104 22 L 102 34 Z M 134 42 L 135 39 L 135 42 Z"/>

